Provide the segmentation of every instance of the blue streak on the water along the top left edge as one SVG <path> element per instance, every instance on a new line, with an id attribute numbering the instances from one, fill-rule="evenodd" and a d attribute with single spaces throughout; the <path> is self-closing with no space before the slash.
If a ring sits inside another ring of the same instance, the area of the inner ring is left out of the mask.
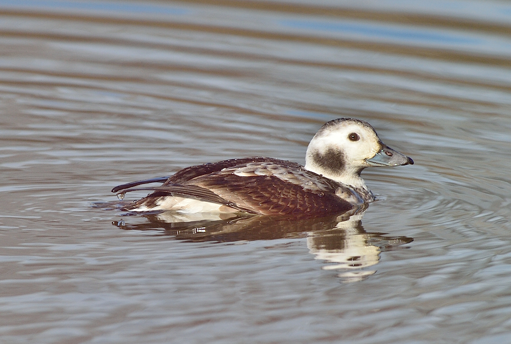
<path id="1" fill-rule="evenodd" d="M 141 5 L 121 2 L 68 2 L 68 1 L 45 1 L 45 0 L 0 0 L 0 8 L 29 7 L 31 9 L 72 9 L 72 10 L 97 10 L 108 12 L 129 12 L 129 13 L 151 13 L 151 14 L 172 14 L 183 15 L 190 11 L 183 8 Z"/>

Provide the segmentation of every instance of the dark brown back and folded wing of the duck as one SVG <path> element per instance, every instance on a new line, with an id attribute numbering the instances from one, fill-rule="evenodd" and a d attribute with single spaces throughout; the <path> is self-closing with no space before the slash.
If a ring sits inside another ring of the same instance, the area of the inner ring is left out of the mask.
<path id="1" fill-rule="evenodd" d="M 129 208 L 150 206 L 162 196 L 173 194 L 263 215 L 323 216 L 353 208 L 336 195 L 339 190 L 351 192 L 343 185 L 310 172 L 297 163 L 261 157 L 191 166 L 180 170 L 162 186 L 141 189 L 155 192 Z M 141 189 L 125 189 L 122 192 Z"/>

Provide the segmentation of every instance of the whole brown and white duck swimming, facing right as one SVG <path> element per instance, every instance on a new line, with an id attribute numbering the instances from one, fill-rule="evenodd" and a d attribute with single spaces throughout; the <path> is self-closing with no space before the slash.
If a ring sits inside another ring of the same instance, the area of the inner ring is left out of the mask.
<path id="1" fill-rule="evenodd" d="M 341 214 L 375 200 L 361 177 L 376 166 L 413 164 L 391 149 L 368 122 L 337 118 L 311 139 L 305 166 L 266 157 L 223 160 L 183 168 L 172 176 L 115 186 L 119 199 L 148 190 L 141 200 L 121 208 L 130 213 L 172 211 L 248 213 L 319 217 Z M 160 186 L 147 186 L 162 183 Z"/>

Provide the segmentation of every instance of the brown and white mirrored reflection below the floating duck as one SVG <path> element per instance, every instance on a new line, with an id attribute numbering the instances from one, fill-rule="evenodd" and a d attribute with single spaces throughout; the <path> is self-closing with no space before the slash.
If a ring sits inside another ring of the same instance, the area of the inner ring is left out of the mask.
<path id="1" fill-rule="evenodd" d="M 182 215 L 179 215 L 182 216 Z M 203 215 L 195 215 L 203 216 Z M 392 250 L 413 239 L 368 233 L 362 227 L 362 214 L 308 219 L 289 219 L 259 215 L 230 215 L 228 218 L 183 218 L 175 213 L 125 217 L 113 224 L 125 230 L 159 230 L 185 241 L 251 241 L 280 238 L 307 239 L 309 252 L 324 262 L 323 269 L 337 270 L 345 282 L 360 281 L 376 272 L 380 252 Z M 132 221 L 133 220 L 133 221 Z M 191 221 L 190 221 L 191 220 Z M 161 230 L 162 229 L 162 230 Z M 371 268 L 372 267 L 372 268 Z"/>

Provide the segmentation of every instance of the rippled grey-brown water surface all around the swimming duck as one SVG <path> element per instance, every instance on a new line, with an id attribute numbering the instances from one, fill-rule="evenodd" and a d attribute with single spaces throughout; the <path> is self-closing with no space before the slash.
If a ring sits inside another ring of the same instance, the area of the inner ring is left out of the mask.
<path id="1" fill-rule="evenodd" d="M 0 2 L 6 343 L 511 337 L 511 5 Z M 347 222 L 125 216 L 110 190 L 327 120 L 415 164 Z"/>

